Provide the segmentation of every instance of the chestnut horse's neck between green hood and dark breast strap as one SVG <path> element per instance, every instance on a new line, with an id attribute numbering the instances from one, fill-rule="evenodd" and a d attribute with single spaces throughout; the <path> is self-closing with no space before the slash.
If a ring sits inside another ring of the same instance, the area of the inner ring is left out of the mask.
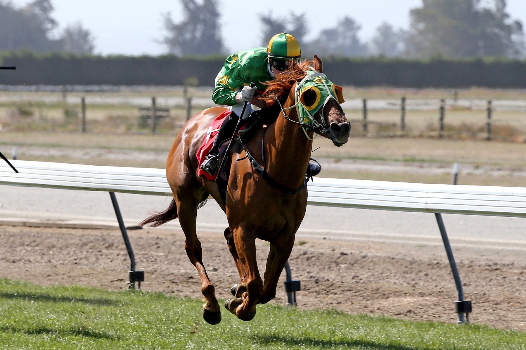
<path id="1" fill-rule="evenodd" d="M 291 91 L 284 108 L 294 105 L 294 90 Z M 309 140 L 303 129 L 295 123 L 288 121 L 282 115 L 273 124 L 274 128 L 267 132 L 265 137 L 267 157 L 267 172 L 280 184 L 297 188 L 304 179 L 309 164 L 312 141 Z M 296 108 L 286 110 L 288 118 L 299 121 Z M 312 132 L 309 132 L 312 138 Z"/>

